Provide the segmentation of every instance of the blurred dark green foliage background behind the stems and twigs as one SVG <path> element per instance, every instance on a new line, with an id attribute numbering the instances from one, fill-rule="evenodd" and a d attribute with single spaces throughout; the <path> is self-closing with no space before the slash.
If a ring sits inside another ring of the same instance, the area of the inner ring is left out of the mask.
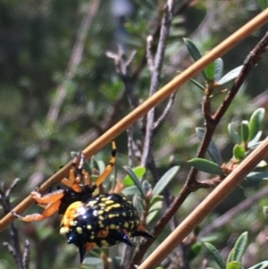
<path id="1" fill-rule="evenodd" d="M 183 71 L 192 63 L 182 37 L 192 39 L 205 53 L 261 11 L 257 1 L 175 2 L 178 2 L 175 4 L 178 9 L 184 2 L 187 4 L 173 20 L 161 86 L 171 80 L 177 71 Z M 146 40 L 161 21 L 163 4 L 164 1 L 152 0 L 0 0 L 0 176 L 6 188 L 15 178 L 21 179 L 13 191 L 13 206 L 66 164 L 71 159 L 71 151 L 86 147 L 131 111 L 124 85 L 116 73 L 113 60 L 105 55 L 106 51 L 116 52 L 119 45 L 128 56 L 133 50 L 137 51 L 130 65 L 130 72 L 136 74 L 131 82 L 138 102 L 148 97 L 150 72 L 144 63 Z M 87 18 L 88 25 L 83 29 Z M 266 25 L 257 30 L 224 55 L 224 71 L 241 65 L 267 29 Z M 81 32 L 84 37 L 80 36 Z M 157 35 L 155 38 L 156 42 Z M 79 45 L 83 46 L 81 58 L 73 55 L 79 52 Z M 268 106 L 267 65 L 268 55 L 264 55 L 217 129 L 214 141 L 221 149 L 224 160 L 229 160 L 231 156 L 228 123 L 248 119 L 255 108 Z M 197 80 L 203 83 L 201 77 Z M 60 93 L 63 94 L 62 103 L 54 105 Z M 173 156 L 173 164 L 182 165 L 180 173 L 172 181 L 174 196 L 179 193 L 187 176 L 185 162 L 196 156 L 198 139 L 195 128 L 204 124 L 200 110 L 202 97 L 203 93 L 191 83 L 180 88 L 171 113 L 154 139 L 159 174 L 169 168 L 170 156 Z M 219 98 L 219 103 L 221 100 Z M 163 107 L 159 105 L 156 113 L 160 114 Z M 136 125 L 134 139 L 141 140 Z M 116 143 L 116 165 L 121 177 L 125 174 L 121 166 L 128 164 L 127 135 L 121 134 Z M 109 157 L 110 146 L 96 155 L 105 163 Z M 205 177 L 200 174 L 201 179 Z M 205 227 L 219 214 L 253 195 L 264 183 L 246 182 L 245 186 L 236 190 L 237 195 L 229 198 L 229 203 L 219 206 L 202 225 Z M 180 209 L 178 220 L 188 215 L 208 192 L 200 190 L 192 194 Z M 214 231 L 211 236 L 219 248 L 228 248 L 226 246 L 229 246 L 232 237 L 252 230 L 255 260 L 249 253 L 247 262 L 264 259 L 267 243 L 262 245 L 256 240 L 264 233 L 262 206 L 265 204 L 268 205 L 268 199 L 251 207 L 249 212 L 239 214 L 221 230 Z M 38 206 L 32 206 L 27 213 L 38 210 Z M 4 215 L 1 210 L 0 215 Z M 79 265 L 76 249 L 67 246 L 58 234 L 59 222 L 58 215 L 44 223 L 16 222 L 21 244 L 25 239 L 30 240 L 30 268 L 72 268 Z M 170 229 L 167 227 L 159 242 Z M 1 242 L 11 241 L 9 229 L 3 231 L 0 237 Z M 158 240 L 152 249 L 157 243 Z M 0 253 L 0 268 L 15 268 L 13 256 L 2 244 Z M 199 267 L 200 260 L 195 259 L 192 263 L 193 268 Z"/>

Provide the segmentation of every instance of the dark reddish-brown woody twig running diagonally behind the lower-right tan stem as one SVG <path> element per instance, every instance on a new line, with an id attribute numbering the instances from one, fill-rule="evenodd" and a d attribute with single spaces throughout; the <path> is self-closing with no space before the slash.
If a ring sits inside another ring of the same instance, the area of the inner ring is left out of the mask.
<path id="1" fill-rule="evenodd" d="M 219 110 L 214 114 L 214 116 L 206 117 L 207 122 L 206 122 L 205 135 L 204 139 L 201 142 L 201 146 L 199 147 L 197 157 L 202 158 L 205 156 L 207 147 L 209 146 L 209 143 L 214 135 L 214 130 L 217 127 L 217 124 L 222 119 L 223 114 L 227 111 L 228 107 L 231 104 L 231 101 L 239 91 L 240 86 L 246 80 L 248 73 L 252 71 L 252 69 L 255 67 L 255 64 L 261 59 L 261 55 L 264 54 L 267 46 L 268 46 L 268 33 L 265 34 L 264 38 L 257 44 L 257 46 L 255 46 L 255 49 L 253 49 L 247 56 L 244 62 L 244 67 L 240 72 L 239 77 L 235 80 L 233 86 L 230 88 L 230 92 L 224 99 Z M 196 191 L 197 189 L 203 188 L 202 183 L 196 181 L 197 172 L 198 172 L 197 169 L 193 168 L 188 173 L 188 178 L 184 186 L 180 190 L 179 196 L 174 199 L 172 205 L 168 208 L 168 210 L 166 210 L 165 214 L 163 214 L 163 217 L 158 221 L 158 223 L 156 223 L 155 229 L 153 231 L 153 234 L 155 236 L 157 236 L 161 231 L 163 231 L 165 225 L 170 221 L 172 215 L 178 211 L 184 200 L 188 198 L 188 195 L 192 191 Z M 207 188 L 207 185 L 205 184 L 204 187 Z M 152 243 L 153 240 L 147 240 L 143 245 L 140 246 L 133 260 L 136 265 L 140 264 L 142 257 L 147 252 L 147 249 L 152 245 Z"/>

